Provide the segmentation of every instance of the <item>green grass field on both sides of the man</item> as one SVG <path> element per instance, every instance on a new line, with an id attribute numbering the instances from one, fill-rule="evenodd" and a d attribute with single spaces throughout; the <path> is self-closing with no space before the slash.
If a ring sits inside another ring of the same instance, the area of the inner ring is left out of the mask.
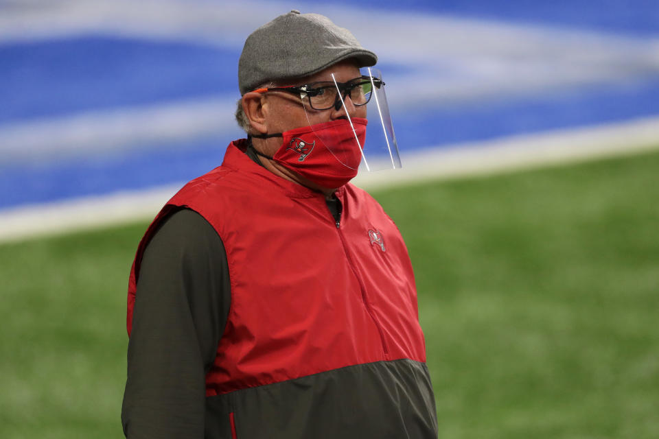
<path id="1" fill-rule="evenodd" d="M 659 438 L 659 152 L 377 191 L 439 437 Z M 0 245 L 0 438 L 119 438 L 147 222 Z"/>

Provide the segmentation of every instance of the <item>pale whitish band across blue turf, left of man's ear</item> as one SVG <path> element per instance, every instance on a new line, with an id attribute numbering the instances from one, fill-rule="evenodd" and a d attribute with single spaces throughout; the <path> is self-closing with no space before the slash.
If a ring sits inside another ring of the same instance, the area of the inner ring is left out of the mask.
<path id="1" fill-rule="evenodd" d="M 219 137 L 240 132 L 234 111 L 235 100 L 207 97 L 0 125 L 0 163 L 90 156 L 211 134 Z"/>

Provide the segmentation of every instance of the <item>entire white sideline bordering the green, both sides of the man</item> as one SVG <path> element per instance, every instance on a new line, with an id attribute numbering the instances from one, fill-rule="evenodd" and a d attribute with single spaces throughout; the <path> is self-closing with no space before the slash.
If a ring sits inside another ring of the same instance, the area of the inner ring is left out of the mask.
<path id="1" fill-rule="evenodd" d="M 405 154 L 397 171 L 360 173 L 366 189 L 428 179 L 494 174 L 553 163 L 634 154 L 659 147 L 659 117 L 615 125 L 509 137 Z M 0 241 L 148 220 L 180 185 L 0 211 Z"/>

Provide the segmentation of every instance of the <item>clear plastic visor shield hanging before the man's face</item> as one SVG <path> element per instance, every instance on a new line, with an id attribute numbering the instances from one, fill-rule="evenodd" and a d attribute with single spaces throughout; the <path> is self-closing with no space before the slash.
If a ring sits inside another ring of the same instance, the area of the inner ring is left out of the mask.
<path id="1" fill-rule="evenodd" d="M 372 67 L 360 69 L 358 78 L 329 73 L 325 81 L 302 86 L 301 104 L 319 141 L 316 147 L 326 148 L 350 169 L 399 169 L 400 154 L 384 87 L 382 73 Z M 341 122 L 328 123 L 337 120 Z"/>

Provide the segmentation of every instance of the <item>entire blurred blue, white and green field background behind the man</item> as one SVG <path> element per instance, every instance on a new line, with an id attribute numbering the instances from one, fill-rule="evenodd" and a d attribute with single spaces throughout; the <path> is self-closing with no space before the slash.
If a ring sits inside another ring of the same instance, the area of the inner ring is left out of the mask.
<path id="1" fill-rule="evenodd" d="M 0 0 L 0 436 L 121 436 L 132 252 L 293 8 L 380 56 L 404 169 L 358 184 L 410 247 L 440 437 L 659 437 L 654 0 Z"/>

